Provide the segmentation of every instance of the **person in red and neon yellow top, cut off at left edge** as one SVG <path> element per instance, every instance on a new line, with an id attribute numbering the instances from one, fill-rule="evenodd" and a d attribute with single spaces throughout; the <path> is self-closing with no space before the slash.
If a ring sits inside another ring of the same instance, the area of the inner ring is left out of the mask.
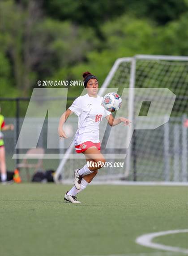
<path id="1" fill-rule="evenodd" d="M 1 177 L 1 182 L 3 184 L 5 184 L 7 181 L 7 170 L 6 170 L 3 133 L 1 131 L 13 130 L 13 129 L 14 129 L 13 124 L 5 125 L 4 116 L 0 115 L 0 177 Z"/>

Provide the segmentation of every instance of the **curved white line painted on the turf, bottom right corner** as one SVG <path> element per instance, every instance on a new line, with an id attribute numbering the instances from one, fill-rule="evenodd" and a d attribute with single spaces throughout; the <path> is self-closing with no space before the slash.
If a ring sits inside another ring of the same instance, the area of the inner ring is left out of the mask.
<path id="1" fill-rule="evenodd" d="M 179 230 L 167 230 L 167 231 L 162 231 L 162 232 L 157 232 L 157 233 L 150 233 L 150 234 L 144 234 L 136 239 L 136 243 L 158 249 L 158 250 L 165 250 L 165 251 L 170 251 L 170 252 L 181 252 L 181 253 L 187 253 L 188 254 L 188 249 L 180 248 L 180 247 L 173 247 L 173 246 L 167 246 L 163 245 L 160 243 L 153 243 L 152 239 L 159 237 L 159 236 L 164 236 L 168 234 L 178 234 L 178 233 L 187 233 L 188 229 L 179 229 Z"/>

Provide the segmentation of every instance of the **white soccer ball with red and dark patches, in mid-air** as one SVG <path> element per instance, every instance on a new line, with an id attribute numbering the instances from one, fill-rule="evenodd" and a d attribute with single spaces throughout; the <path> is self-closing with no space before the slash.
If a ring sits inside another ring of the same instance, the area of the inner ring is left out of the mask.
<path id="1" fill-rule="evenodd" d="M 117 111 L 121 107 L 122 99 L 119 94 L 115 92 L 107 93 L 103 98 L 103 107 L 110 111 Z"/>

